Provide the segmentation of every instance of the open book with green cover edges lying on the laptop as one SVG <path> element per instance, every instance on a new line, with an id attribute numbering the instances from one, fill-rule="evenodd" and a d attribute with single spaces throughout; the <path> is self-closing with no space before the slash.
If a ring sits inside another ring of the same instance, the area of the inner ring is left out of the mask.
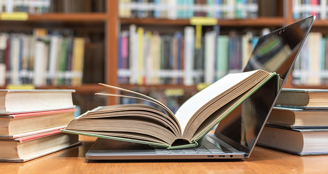
<path id="1" fill-rule="evenodd" d="M 168 149 L 196 147 L 220 120 L 275 75 L 263 70 L 228 74 L 188 99 L 175 114 L 151 97 L 101 84 L 133 96 L 100 95 L 143 99 L 157 107 L 144 104 L 100 106 L 74 118 L 61 131 Z"/>

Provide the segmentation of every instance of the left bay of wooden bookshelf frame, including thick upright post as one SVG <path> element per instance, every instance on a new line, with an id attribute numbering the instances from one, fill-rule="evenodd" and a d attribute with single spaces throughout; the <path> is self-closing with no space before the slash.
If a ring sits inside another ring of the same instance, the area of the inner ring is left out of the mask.
<path id="1" fill-rule="evenodd" d="M 79 28 L 84 30 L 92 30 L 95 32 L 105 33 L 105 74 L 104 80 L 107 84 L 117 85 L 116 83 L 116 57 L 117 44 L 117 1 L 106 1 L 106 12 L 79 12 L 79 13 L 44 13 L 30 14 L 26 21 L 8 21 L 0 20 L 0 30 L 11 28 L 24 28 L 29 30 L 36 27 L 48 28 Z M 23 27 L 22 27 L 23 26 Z M 5 86 L 0 86 L 0 89 L 5 89 Z M 93 94 L 95 92 L 109 91 L 104 86 L 96 83 L 84 83 L 79 86 L 39 86 L 36 89 L 74 89 L 77 94 Z M 115 104 L 115 100 L 107 99 L 107 104 Z"/>

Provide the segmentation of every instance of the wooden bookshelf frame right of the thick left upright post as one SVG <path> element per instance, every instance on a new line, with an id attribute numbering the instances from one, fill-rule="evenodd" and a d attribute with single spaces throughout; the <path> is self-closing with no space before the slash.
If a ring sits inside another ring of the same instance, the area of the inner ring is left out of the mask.
<path id="1" fill-rule="evenodd" d="M 261 17 L 259 16 L 256 19 L 218 19 L 218 25 L 220 27 L 283 27 L 295 23 L 298 20 L 293 18 L 293 1 L 284 0 L 277 1 L 277 16 L 275 17 Z M 176 28 L 177 26 L 189 26 L 189 19 L 156 19 L 156 18 L 120 18 L 120 24 L 127 26 L 130 24 L 135 24 L 137 26 L 145 27 L 146 26 L 159 26 L 166 28 Z M 321 32 L 323 34 L 328 34 L 326 28 L 328 27 L 328 20 L 322 20 L 317 17 L 311 32 Z M 145 88 L 145 85 L 133 85 L 133 84 L 120 84 L 121 86 L 128 87 L 129 89 L 136 88 Z M 154 86 L 151 85 L 153 88 Z M 162 89 L 163 85 L 157 85 L 158 89 Z M 165 85 L 168 88 L 167 85 Z M 149 86 L 150 87 L 150 86 Z M 172 88 L 181 88 L 184 89 L 181 85 L 175 86 L 171 85 Z M 284 88 L 311 88 L 311 89 L 328 89 L 327 85 L 297 85 L 292 83 L 292 73 L 287 78 L 287 81 L 284 85 Z"/>

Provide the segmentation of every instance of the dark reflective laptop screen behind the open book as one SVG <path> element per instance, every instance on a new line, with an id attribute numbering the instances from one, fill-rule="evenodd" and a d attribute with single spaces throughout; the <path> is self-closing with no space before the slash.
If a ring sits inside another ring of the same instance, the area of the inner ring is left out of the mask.
<path id="1" fill-rule="evenodd" d="M 311 16 L 259 37 L 244 72 L 261 69 L 276 72 L 281 79 L 285 80 L 314 19 L 315 16 Z M 280 90 L 281 88 L 278 94 Z M 244 151 L 246 153 L 245 158 L 247 158 L 278 96 L 274 91 L 278 91 L 277 78 L 264 84 L 224 118 L 219 123 L 215 135 L 235 148 Z"/>

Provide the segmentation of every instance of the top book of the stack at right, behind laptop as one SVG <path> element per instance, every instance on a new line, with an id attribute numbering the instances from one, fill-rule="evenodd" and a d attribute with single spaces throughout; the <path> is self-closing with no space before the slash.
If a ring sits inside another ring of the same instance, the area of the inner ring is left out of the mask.
<path id="1" fill-rule="evenodd" d="M 328 90 L 282 89 L 276 101 L 278 106 L 307 109 L 327 109 Z"/>

